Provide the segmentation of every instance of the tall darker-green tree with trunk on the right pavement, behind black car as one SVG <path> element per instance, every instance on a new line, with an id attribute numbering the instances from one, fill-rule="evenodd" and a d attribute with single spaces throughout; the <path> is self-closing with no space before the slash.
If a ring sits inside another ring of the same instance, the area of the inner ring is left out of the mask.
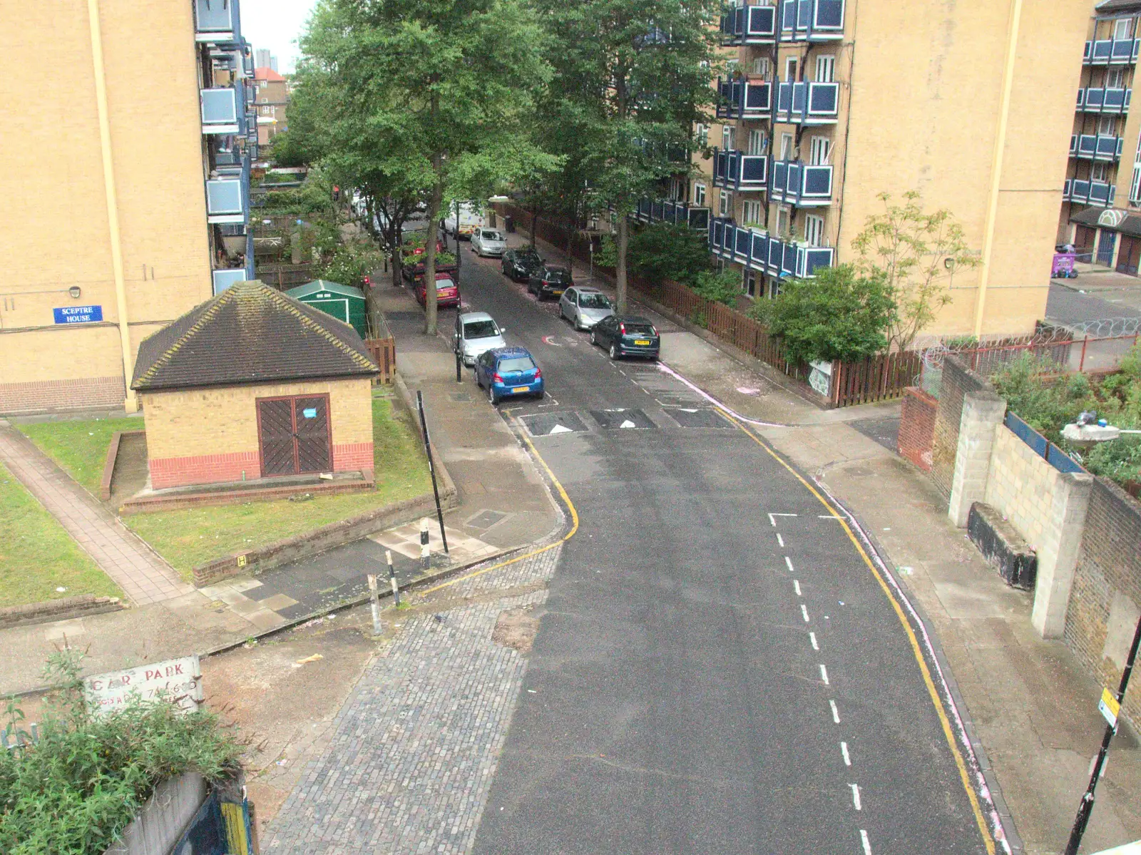
<path id="1" fill-rule="evenodd" d="M 688 169 L 715 73 L 719 0 L 532 0 L 557 42 L 552 89 L 570 162 L 616 215 L 617 309 L 626 309 L 628 217 L 663 178 Z"/>

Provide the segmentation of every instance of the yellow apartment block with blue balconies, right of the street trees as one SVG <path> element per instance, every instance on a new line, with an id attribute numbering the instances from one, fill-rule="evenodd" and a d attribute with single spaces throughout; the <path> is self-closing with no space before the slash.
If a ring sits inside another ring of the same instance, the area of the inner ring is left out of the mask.
<path id="1" fill-rule="evenodd" d="M 704 175 L 714 256 L 753 297 L 853 260 L 908 191 L 949 209 L 980 264 L 948 271 L 929 336 L 1033 332 L 1045 314 L 1090 0 L 747 0 L 721 21 L 728 76 Z M 644 221 L 654 216 L 642 216 Z M 666 219 L 670 217 L 666 216 Z M 693 213 L 690 223 L 695 223 Z"/>

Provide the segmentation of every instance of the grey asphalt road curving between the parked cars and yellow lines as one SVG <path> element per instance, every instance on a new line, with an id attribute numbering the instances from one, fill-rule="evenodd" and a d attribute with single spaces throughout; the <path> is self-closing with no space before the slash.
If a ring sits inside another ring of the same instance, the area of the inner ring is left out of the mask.
<path id="1" fill-rule="evenodd" d="M 475 852 L 985 853 L 909 640 L 840 523 L 682 384 L 612 363 L 497 263 L 463 263 L 466 304 L 547 379 L 544 402 L 500 409 L 581 517 Z"/>

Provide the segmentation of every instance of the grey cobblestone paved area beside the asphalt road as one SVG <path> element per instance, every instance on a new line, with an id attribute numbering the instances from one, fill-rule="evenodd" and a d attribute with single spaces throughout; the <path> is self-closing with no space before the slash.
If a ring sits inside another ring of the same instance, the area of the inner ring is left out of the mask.
<path id="1" fill-rule="evenodd" d="M 502 611 L 545 600 L 545 587 L 526 587 L 544 586 L 560 551 L 464 579 L 428 599 L 429 606 L 477 602 L 388 612 L 402 624 L 397 635 L 270 824 L 266 852 L 470 852 L 526 668 L 518 652 L 492 642 L 492 631 Z"/>

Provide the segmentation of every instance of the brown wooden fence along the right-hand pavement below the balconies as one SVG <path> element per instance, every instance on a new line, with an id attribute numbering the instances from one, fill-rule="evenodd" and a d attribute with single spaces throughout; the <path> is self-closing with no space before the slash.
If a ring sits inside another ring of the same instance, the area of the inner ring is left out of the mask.
<path id="1" fill-rule="evenodd" d="M 511 204 L 496 205 L 501 213 L 515 218 L 516 227 L 529 231 L 531 215 Z M 539 237 L 564 252 L 567 245 L 566 226 L 539 218 L 535 232 Z M 572 255 L 583 264 L 590 260 L 590 243 L 578 233 L 572 234 Z M 594 271 L 614 277 L 614 269 L 594 264 Z M 808 380 L 811 368 L 788 362 L 779 339 L 770 336 L 763 324 L 758 323 L 735 308 L 706 299 L 686 285 L 670 280 L 649 282 L 638 276 L 630 277 L 630 288 L 659 303 L 690 323 L 704 326 L 721 340 L 744 350 L 750 356 L 771 365 L 782 373 L 802 382 Z M 922 370 L 922 357 L 917 352 L 880 354 L 861 362 L 832 363 L 832 380 L 827 395 L 828 406 L 855 406 L 877 401 L 903 397 L 904 389 L 915 385 Z M 815 390 L 814 390 L 814 394 Z"/>

